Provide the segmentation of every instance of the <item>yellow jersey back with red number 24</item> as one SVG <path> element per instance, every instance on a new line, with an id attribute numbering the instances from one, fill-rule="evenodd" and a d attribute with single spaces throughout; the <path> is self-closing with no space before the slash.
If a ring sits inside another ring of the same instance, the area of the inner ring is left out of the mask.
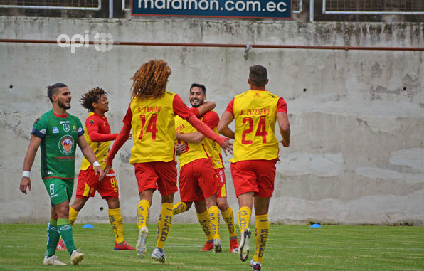
<path id="1" fill-rule="evenodd" d="M 280 97 L 249 90 L 234 97 L 235 141 L 231 162 L 278 158 L 275 114 Z"/>

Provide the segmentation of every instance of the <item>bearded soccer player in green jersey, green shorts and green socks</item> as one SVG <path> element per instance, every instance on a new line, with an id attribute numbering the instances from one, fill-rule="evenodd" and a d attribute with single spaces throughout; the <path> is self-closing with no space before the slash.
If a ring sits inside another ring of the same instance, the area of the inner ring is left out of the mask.
<path id="1" fill-rule="evenodd" d="M 69 201 L 73 192 L 75 175 L 75 143 L 85 158 L 95 168 L 96 174 L 102 169 L 90 145 L 84 137 L 83 125 L 78 117 L 66 112 L 70 109 L 70 90 L 63 83 L 47 87 L 47 95 L 53 109 L 36 119 L 31 132 L 28 151 L 23 160 L 23 174 L 19 189 L 26 194 L 31 191 L 30 171 L 36 152 L 41 146 L 41 178 L 51 200 L 51 219 L 47 228 L 47 252 L 44 265 L 66 265 L 55 256 L 60 235 L 65 242 L 72 265 L 84 259 L 73 243 L 72 227 L 69 223 Z"/>

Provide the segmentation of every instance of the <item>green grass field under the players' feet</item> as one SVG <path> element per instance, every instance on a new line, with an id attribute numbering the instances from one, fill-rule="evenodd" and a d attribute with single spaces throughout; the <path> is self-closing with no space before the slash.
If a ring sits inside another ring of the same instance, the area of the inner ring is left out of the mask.
<path id="1" fill-rule="evenodd" d="M 73 233 L 85 260 L 75 267 L 51 267 L 43 265 L 47 225 L 0 224 L 0 270 L 250 270 L 255 250 L 252 238 L 249 260 L 241 262 L 229 252 L 228 230 L 222 228 L 223 253 L 200 252 L 205 242 L 200 226 L 174 224 L 161 264 L 149 257 L 156 244 L 156 224 L 149 225 L 148 257 L 143 260 L 134 251 L 113 250 L 110 225 L 82 226 L 75 224 Z M 137 226 L 125 224 L 124 235 L 135 245 Z M 70 265 L 68 252 L 56 255 Z M 424 270 L 424 228 L 271 225 L 263 270 Z"/>

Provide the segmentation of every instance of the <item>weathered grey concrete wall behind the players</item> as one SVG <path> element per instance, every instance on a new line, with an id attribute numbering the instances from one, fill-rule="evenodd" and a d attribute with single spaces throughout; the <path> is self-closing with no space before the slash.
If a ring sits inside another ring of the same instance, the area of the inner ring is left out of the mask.
<path id="1" fill-rule="evenodd" d="M 59 34 L 110 33 L 115 41 L 253 43 L 318 46 L 424 47 L 423 23 L 296 23 L 201 18 L 90 20 L 0 17 L 1 38 L 55 40 Z M 31 171 L 33 190 L 18 191 L 23 156 L 33 121 L 51 109 L 46 86 L 66 83 L 70 113 L 85 119 L 80 95 L 100 86 L 109 92 L 112 132 L 118 132 L 129 103 L 129 78 L 149 59 L 166 60 L 170 91 L 187 103 L 193 82 L 207 87 L 221 115 L 232 97 L 248 90 L 248 68 L 268 68 L 268 90 L 288 104 L 290 148 L 280 147 L 272 223 L 424 225 L 423 52 L 332 51 L 253 48 L 93 46 L 0 43 L 0 222 L 46 222 L 49 201 L 40 179 L 40 157 Z M 125 222 L 135 222 L 139 196 L 132 144 L 117 154 Z M 82 154 L 78 151 L 76 174 Z M 228 157 L 228 201 L 238 211 Z M 76 181 L 75 181 L 76 183 Z M 178 200 L 178 195 L 176 200 Z M 103 208 L 103 210 L 100 210 Z M 155 193 L 150 222 L 157 220 Z M 196 223 L 194 210 L 176 223 Z M 77 223 L 107 223 L 107 205 L 96 196 Z"/>

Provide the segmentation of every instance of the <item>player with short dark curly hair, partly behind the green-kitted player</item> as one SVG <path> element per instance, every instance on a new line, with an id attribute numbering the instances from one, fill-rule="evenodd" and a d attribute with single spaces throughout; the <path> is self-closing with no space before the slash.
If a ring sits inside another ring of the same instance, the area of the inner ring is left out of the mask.
<path id="1" fill-rule="evenodd" d="M 95 152 L 100 166 L 106 166 L 105 159 L 109 152 L 110 141 L 115 140 L 117 134 L 110 134 L 109 122 L 105 113 L 109 111 L 109 101 L 105 90 L 95 87 L 86 92 L 81 97 L 81 105 L 90 111 L 85 119 L 84 137 Z M 90 162 L 83 158 L 80 174 L 78 175 L 78 186 L 75 201 L 69 208 L 69 222 L 73 225 L 77 219 L 78 212 L 84 207 L 88 198 L 95 196 L 95 192 L 100 193 L 106 200 L 109 207 L 109 221 L 115 235 L 114 250 L 135 250 L 124 240 L 124 228 L 122 226 L 122 216 L 120 212 L 120 199 L 117 179 L 113 169 L 99 181 L 99 176 L 95 174 Z"/>

